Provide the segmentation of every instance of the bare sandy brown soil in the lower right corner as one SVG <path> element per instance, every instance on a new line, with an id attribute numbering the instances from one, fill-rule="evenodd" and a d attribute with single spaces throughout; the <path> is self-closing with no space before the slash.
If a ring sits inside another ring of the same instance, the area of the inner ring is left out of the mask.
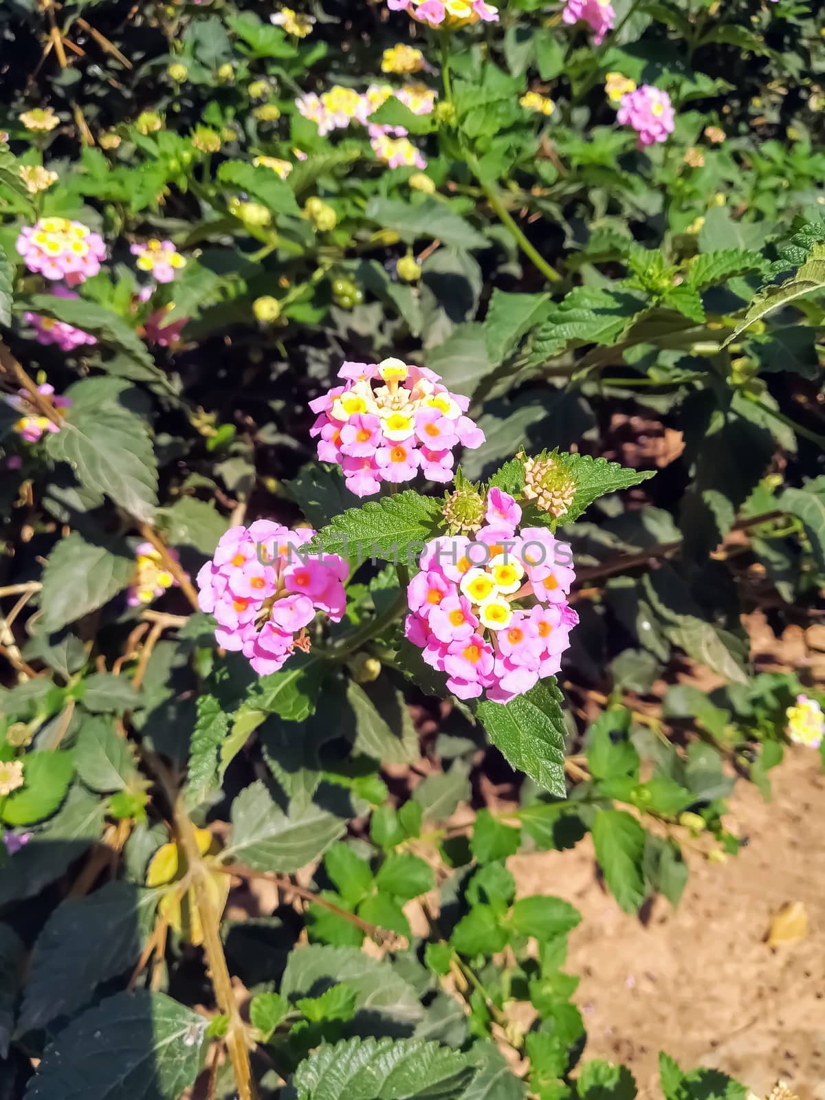
<path id="1" fill-rule="evenodd" d="M 661 1097 L 659 1050 L 759 1097 L 783 1078 L 801 1100 L 825 1100 L 825 777 L 818 754 L 801 748 L 772 776 L 771 803 L 745 782 L 732 799 L 726 824 L 748 845 L 724 865 L 685 853 L 681 905 L 656 899 L 645 924 L 604 892 L 590 838 L 508 864 L 520 895 L 558 894 L 581 910 L 566 969 L 582 976 L 584 1057 L 627 1065 L 641 1100 Z M 807 934 L 770 948 L 785 902 L 804 904 Z"/>

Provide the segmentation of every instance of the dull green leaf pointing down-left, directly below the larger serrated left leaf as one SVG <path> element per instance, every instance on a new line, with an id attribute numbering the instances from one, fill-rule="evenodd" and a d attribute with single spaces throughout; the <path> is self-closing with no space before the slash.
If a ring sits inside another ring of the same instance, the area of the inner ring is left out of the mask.
<path id="1" fill-rule="evenodd" d="M 70 531 L 55 544 L 43 569 L 41 625 L 50 632 L 102 607 L 134 575 L 134 556 L 114 542 L 87 542 Z"/>

